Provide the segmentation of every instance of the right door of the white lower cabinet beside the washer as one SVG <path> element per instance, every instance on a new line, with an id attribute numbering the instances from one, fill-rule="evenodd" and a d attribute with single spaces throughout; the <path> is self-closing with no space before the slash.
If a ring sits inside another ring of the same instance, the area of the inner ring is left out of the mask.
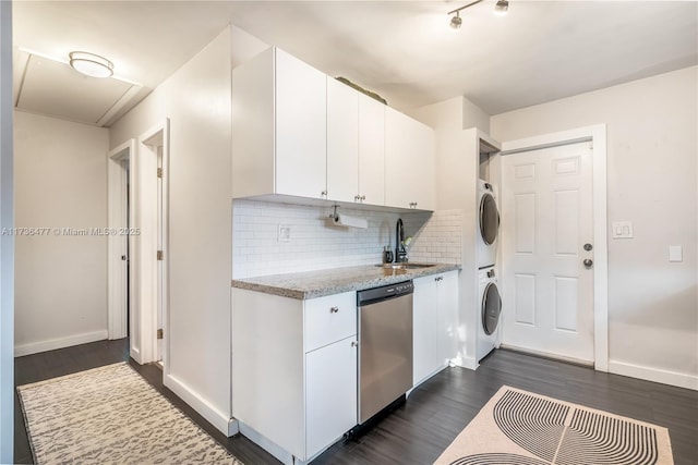
<path id="1" fill-rule="evenodd" d="M 446 366 L 458 351 L 458 271 L 440 274 L 437 284 L 438 363 Z"/>

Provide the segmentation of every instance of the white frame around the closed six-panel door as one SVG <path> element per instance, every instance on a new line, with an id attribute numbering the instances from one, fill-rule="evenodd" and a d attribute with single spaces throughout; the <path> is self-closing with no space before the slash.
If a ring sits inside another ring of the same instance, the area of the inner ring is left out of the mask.
<path id="1" fill-rule="evenodd" d="M 595 124 L 502 143 L 500 155 L 591 142 L 593 192 L 593 366 L 609 371 L 609 243 L 606 211 L 606 125 Z"/>

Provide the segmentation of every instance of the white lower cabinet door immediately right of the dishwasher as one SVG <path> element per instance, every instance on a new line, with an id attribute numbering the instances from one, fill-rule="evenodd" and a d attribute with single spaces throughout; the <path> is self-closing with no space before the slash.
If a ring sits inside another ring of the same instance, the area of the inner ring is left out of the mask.
<path id="1" fill-rule="evenodd" d="M 437 289 L 434 277 L 413 280 L 412 384 L 416 386 L 440 366 Z"/>

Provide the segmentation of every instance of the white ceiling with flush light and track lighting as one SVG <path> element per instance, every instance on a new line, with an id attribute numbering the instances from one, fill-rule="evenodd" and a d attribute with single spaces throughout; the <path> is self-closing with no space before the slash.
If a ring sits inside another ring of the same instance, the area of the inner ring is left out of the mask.
<path id="1" fill-rule="evenodd" d="M 447 12 L 466 3 L 20 0 L 15 102 L 108 126 L 228 23 L 401 110 L 464 95 L 497 114 L 698 64 L 696 1 L 510 0 L 500 17 L 485 0 L 454 30 Z M 128 85 L 100 89 L 41 57 L 73 50 L 109 58 Z"/>

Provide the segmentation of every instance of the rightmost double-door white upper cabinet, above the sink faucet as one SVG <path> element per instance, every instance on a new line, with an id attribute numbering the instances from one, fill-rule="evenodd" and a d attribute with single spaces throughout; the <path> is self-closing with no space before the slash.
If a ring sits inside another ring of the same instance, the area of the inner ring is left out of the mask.
<path id="1" fill-rule="evenodd" d="M 385 109 L 385 205 L 434 209 L 434 131 Z"/>

